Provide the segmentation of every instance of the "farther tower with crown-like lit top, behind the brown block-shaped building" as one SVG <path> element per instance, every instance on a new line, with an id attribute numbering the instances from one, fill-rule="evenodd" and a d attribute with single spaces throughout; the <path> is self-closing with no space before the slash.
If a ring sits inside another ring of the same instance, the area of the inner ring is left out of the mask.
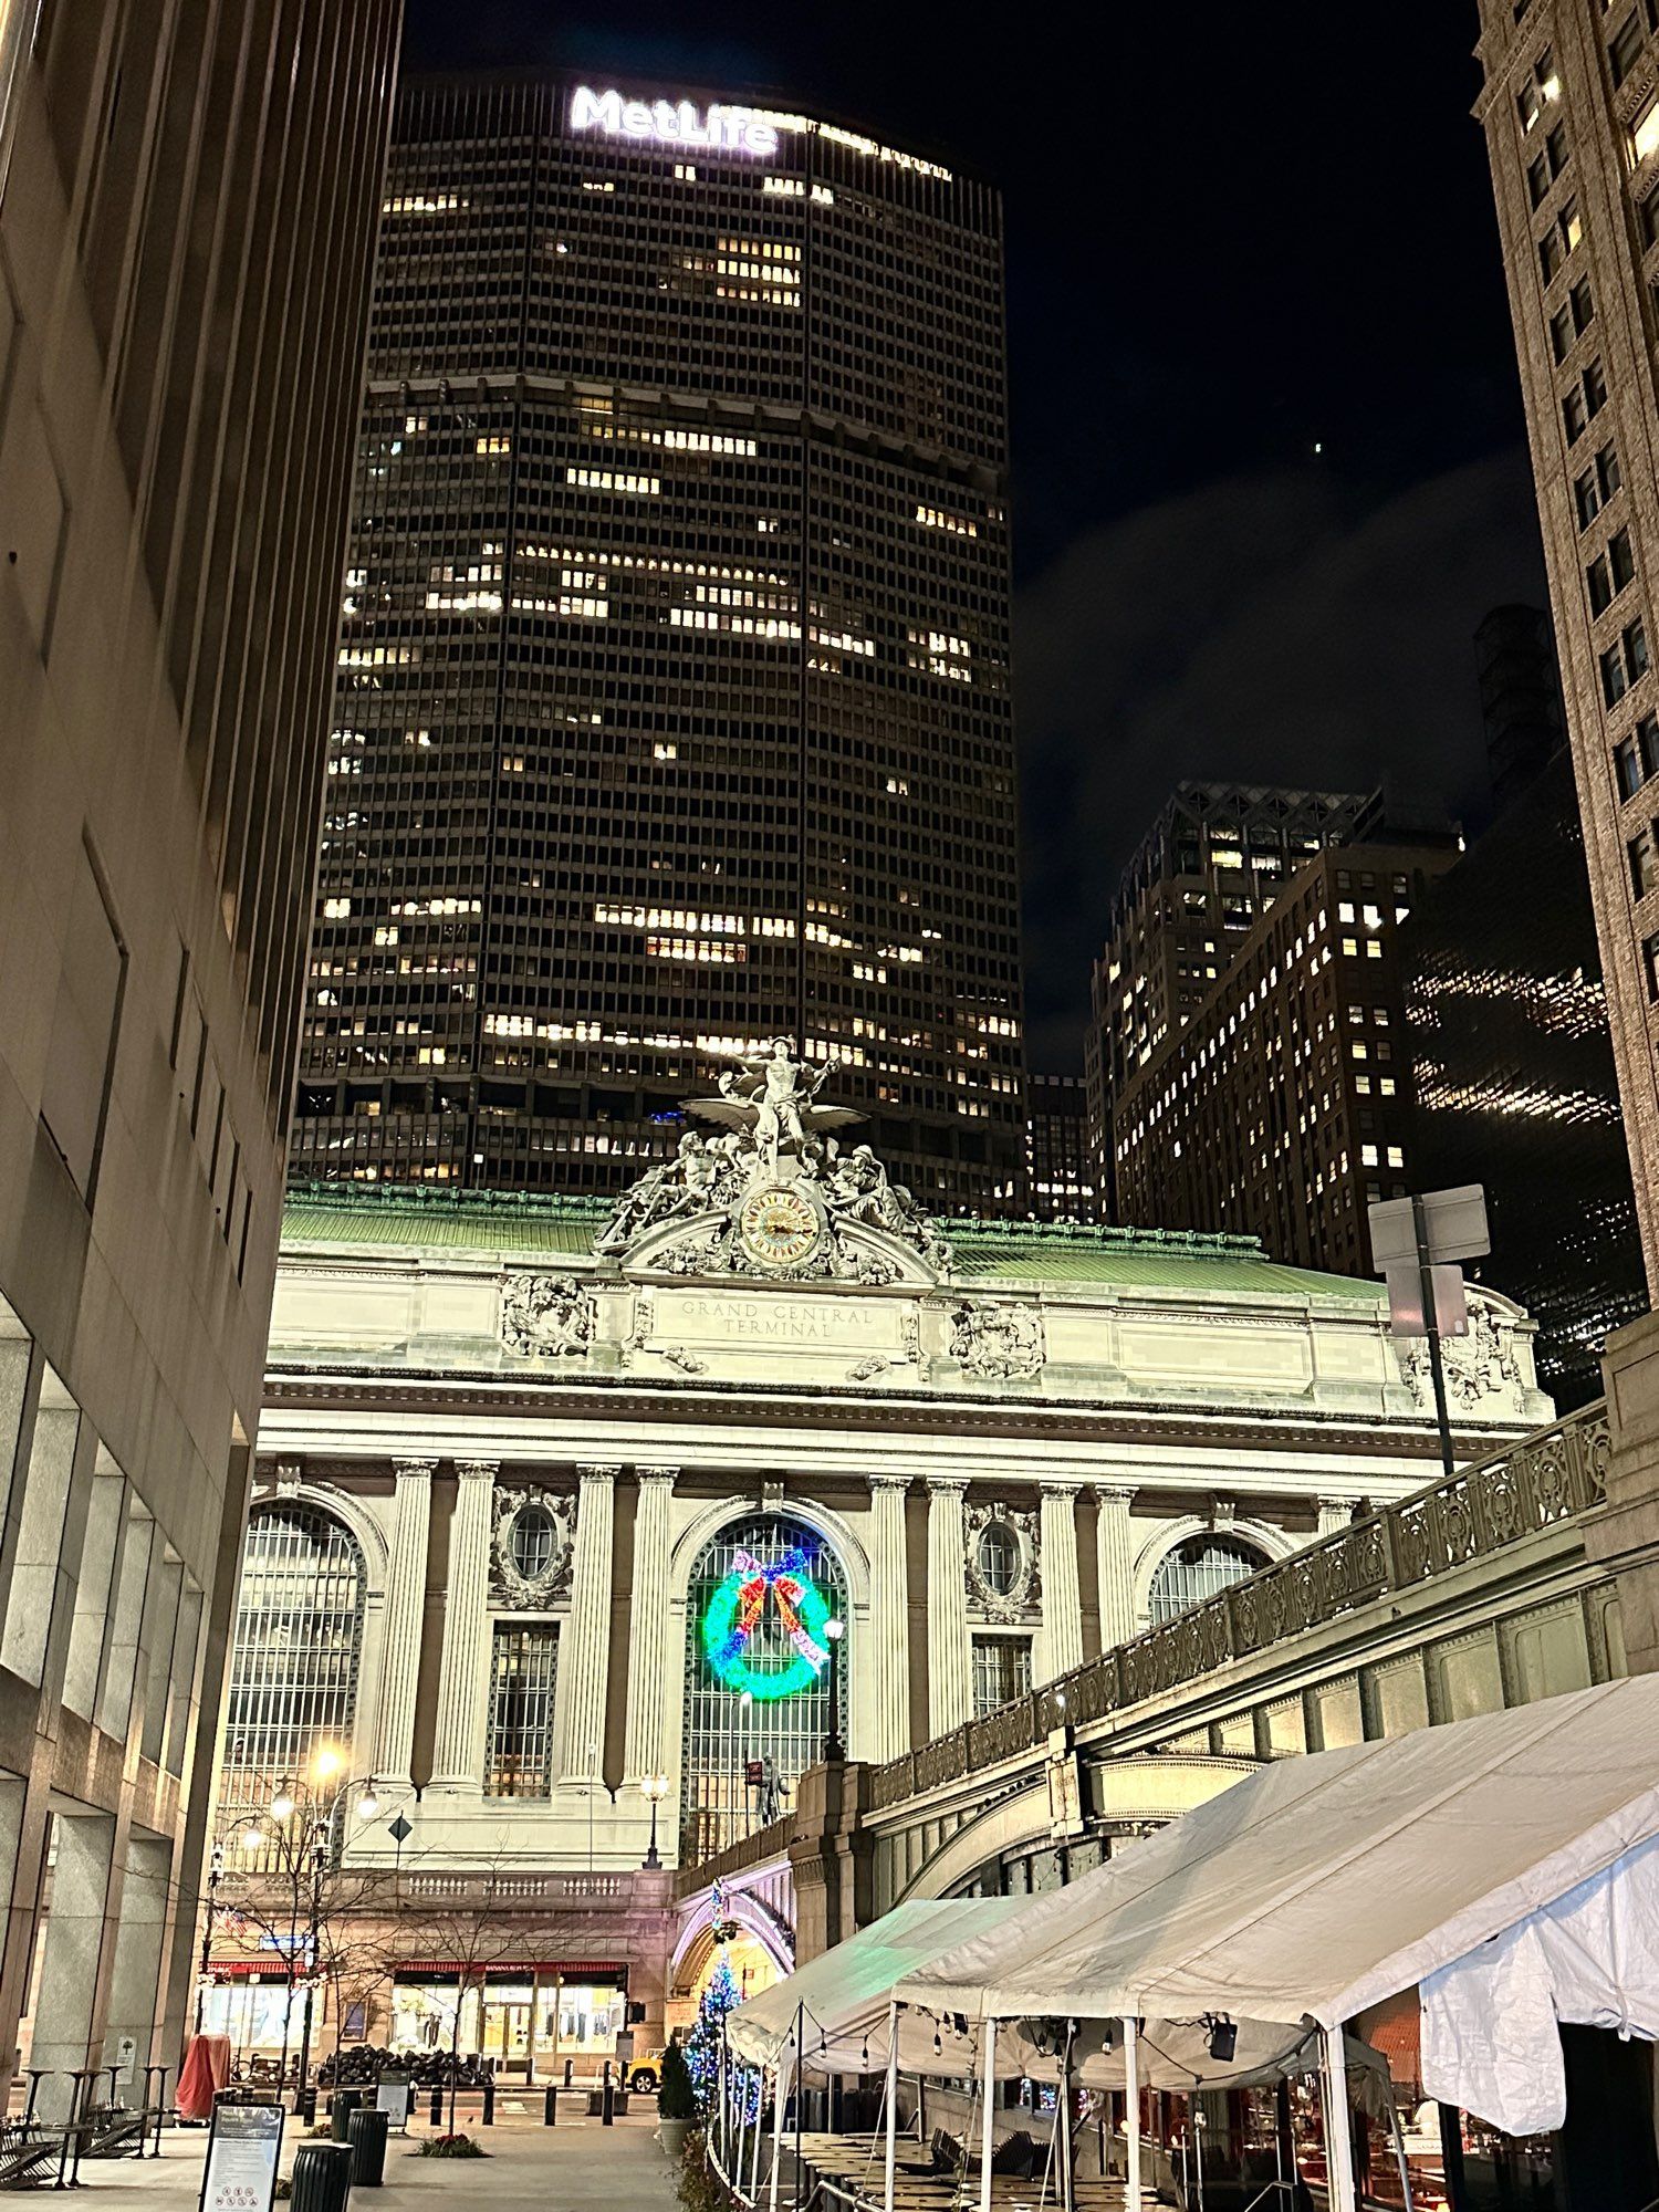
<path id="1" fill-rule="evenodd" d="M 1088 1126 L 1108 1221 L 1113 1113 L 1130 1075 L 1179 1031 L 1310 852 L 1352 836 L 1360 792 L 1181 783 L 1124 869 L 1093 973 L 1084 1046 Z"/>

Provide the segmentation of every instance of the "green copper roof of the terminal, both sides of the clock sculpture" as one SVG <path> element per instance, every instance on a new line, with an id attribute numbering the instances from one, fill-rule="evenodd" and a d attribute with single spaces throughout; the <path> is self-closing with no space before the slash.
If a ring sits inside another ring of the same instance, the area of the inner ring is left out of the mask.
<path id="1" fill-rule="evenodd" d="M 283 1212 L 283 1243 L 372 1250 L 546 1252 L 586 1259 L 611 1201 L 542 1192 L 434 1190 L 427 1183 L 310 1183 Z M 1383 1285 L 1281 1267 L 1256 1237 L 1119 1230 L 1073 1221 L 940 1221 L 960 1283 L 1053 1283 L 1064 1290 L 1214 1290 L 1250 1296 L 1352 1298 Z"/>

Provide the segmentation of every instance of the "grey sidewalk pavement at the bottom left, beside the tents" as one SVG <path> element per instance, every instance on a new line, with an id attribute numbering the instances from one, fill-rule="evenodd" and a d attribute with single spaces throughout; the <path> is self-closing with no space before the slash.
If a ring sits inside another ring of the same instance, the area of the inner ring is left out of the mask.
<path id="1" fill-rule="evenodd" d="M 555 2128 L 529 2119 L 504 2119 L 493 2128 L 471 2128 L 489 2159 L 418 2159 L 416 2143 L 429 2130 L 411 2128 L 387 2146 L 385 2188 L 352 2190 L 352 2212 L 396 2212 L 416 2201 L 427 2212 L 449 2205 L 489 2205 L 489 2212 L 675 2212 L 679 2197 L 675 2168 L 657 2143 L 657 2115 L 630 2112 L 615 2128 L 597 2119 L 566 2117 Z M 301 2135 L 283 2146 L 283 2172 L 294 2163 Z M 201 2197 L 201 2161 L 208 2130 L 173 2130 L 161 2137 L 161 2157 L 88 2159 L 82 2170 L 88 2212 L 170 2212 Z"/>

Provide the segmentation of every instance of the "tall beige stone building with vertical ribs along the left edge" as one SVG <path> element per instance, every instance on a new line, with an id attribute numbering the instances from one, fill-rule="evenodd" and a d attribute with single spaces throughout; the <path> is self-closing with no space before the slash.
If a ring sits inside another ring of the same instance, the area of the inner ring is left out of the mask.
<path id="1" fill-rule="evenodd" d="M 0 2051 L 46 2115 L 192 2000 L 396 35 L 0 9 Z"/>

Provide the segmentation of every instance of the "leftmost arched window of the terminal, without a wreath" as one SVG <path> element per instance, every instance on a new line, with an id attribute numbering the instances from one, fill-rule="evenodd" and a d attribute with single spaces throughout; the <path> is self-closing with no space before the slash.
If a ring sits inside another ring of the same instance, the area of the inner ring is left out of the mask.
<path id="1" fill-rule="evenodd" d="M 219 1825 L 270 1803 L 327 1743 L 347 1759 L 363 1650 L 363 1553 L 332 1513 L 254 1506 L 230 1657 Z"/>

